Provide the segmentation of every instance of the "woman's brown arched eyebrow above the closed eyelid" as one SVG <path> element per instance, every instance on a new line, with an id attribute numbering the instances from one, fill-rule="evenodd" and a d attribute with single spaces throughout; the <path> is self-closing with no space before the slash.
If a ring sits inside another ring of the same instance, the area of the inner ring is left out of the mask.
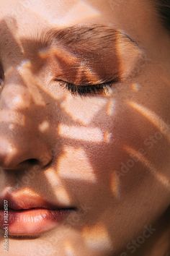
<path id="1" fill-rule="evenodd" d="M 60 44 L 76 48 L 86 46 L 91 50 L 110 48 L 113 46 L 112 43 L 115 48 L 115 44 L 121 41 L 122 43 L 131 43 L 134 47 L 139 48 L 138 43 L 129 35 L 107 25 L 74 25 L 63 29 L 52 28 L 37 34 L 37 41 L 42 47 Z"/>

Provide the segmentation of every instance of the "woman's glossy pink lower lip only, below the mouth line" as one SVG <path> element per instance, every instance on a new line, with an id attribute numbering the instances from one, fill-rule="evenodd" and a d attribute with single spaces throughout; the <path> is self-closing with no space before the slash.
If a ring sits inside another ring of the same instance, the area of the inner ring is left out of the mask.
<path id="1" fill-rule="evenodd" d="M 73 210 L 48 210 L 35 208 L 30 210 L 9 210 L 8 218 L 0 210 L 0 228 L 11 236 L 36 236 L 54 229 L 63 222 Z"/>

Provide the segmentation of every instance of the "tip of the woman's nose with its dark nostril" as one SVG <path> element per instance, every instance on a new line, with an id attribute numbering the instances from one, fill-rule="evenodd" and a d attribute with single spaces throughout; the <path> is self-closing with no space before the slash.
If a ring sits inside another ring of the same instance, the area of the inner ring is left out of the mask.
<path id="1" fill-rule="evenodd" d="M 29 128 L 30 129 L 30 128 Z M 53 159 L 53 154 L 40 137 L 28 136 L 27 129 L 4 129 L 0 133 L 0 167 L 6 170 L 20 170 L 25 168 L 46 168 Z M 32 132 L 32 134 L 34 134 Z M 34 141 L 34 142 L 32 142 Z"/>

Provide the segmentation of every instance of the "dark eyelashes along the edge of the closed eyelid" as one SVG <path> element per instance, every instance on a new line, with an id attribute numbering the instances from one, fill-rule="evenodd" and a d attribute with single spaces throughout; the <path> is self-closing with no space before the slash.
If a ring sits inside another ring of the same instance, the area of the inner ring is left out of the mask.
<path id="1" fill-rule="evenodd" d="M 70 82 L 60 81 L 60 85 L 66 88 L 72 95 L 86 96 L 105 94 L 109 88 L 112 88 L 115 82 L 119 82 L 119 79 L 116 78 L 110 82 L 104 82 L 98 85 L 74 85 Z"/>

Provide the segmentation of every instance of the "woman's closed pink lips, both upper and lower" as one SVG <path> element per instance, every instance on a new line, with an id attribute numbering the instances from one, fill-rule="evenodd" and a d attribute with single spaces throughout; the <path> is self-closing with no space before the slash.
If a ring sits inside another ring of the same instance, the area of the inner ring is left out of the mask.
<path id="1" fill-rule="evenodd" d="M 7 200 L 6 208 L 4 200 Z M 54 229 L 75 210 L 23 192 L 17 197 L 6 194 L 0 197 L 0 228 L 9 236 L 36 236 Z"/>

